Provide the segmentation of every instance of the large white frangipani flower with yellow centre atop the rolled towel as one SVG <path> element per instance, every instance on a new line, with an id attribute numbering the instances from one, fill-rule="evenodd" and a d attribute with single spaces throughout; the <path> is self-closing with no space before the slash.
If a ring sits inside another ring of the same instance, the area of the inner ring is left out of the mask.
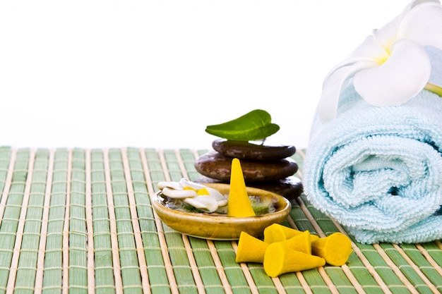
<path id="1" fill-rule="evenodd" d="M 318 105 L 321 121 L 335 118 L 340 93 L 350 79 L 361 97 L 374 106 L 403 104 L 424 88 L 442 96 L 442 85 L 429 83 L 431 63 L 424 46 L 442 49 L 442 6 L 438 0 L 412 1 L 400 16 L 374 30 L 348 59 L 330 71 Z"/>

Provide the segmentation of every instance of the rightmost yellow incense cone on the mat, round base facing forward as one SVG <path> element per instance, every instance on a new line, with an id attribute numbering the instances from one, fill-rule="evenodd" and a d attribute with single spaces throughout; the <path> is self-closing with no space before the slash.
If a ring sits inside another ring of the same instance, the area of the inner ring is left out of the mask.
<path id="1" fill-rule="evenodd" d="M 311 243 L 311 252 L 323 257 L 328 264 L 340 267 L 347 262 L 352 253 L 352 242 L 342 233 L 333 233 L 314 240 Z"/>

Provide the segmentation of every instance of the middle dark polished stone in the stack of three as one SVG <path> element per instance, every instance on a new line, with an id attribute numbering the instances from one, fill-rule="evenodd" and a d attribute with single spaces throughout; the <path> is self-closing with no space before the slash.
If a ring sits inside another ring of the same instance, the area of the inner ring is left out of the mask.
<path id="1" fill-rule="evenodd" d="M 217 180 L 230 180 L 232 158 L 225 157 L 219 152 L 208 152 L 195 161 L 195 169 L 203 176 Z M 298 171 L 298 164 L 291 158 L 276 161 L 241 160 L 244 181 L 259 182 L 265 180 L 280 180 L 292 176 Z"/>

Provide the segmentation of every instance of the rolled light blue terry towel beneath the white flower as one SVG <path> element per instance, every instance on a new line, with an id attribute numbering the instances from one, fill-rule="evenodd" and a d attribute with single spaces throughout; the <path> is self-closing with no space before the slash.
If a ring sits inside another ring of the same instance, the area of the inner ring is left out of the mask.
<path id="1" fill-rule="evenodd" d="M 441 85 L 442 51 L 426 50 L 430 81 Z M 400 106 L 373 106 L 350 82 L 336 118 L 314 118 L 303 184 L 311 204 L 361 243 L 442 239 L 442 97 L 422 90 Z"/>

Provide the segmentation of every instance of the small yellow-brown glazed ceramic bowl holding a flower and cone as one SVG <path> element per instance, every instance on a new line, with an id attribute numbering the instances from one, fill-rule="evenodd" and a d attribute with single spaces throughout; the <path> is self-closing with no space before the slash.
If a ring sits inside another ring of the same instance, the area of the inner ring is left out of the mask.
<path id="1" fill-rule="evenodd" d="M 204 185 L 215 188 L 224 195 L 229 194 L 230 185 L 218 183 L 205 183 Z M 261 237 L 266 227 L 273 223 L 282 223 L 282 221 L 287 219 L 292 205 L 285 197 L 251 187 L 247 187 L 247 193 L 259 197 L 273 197 L 276 200 L 276 212 L 250 217 L 213 216 L 210 214 L 179 212 L 169 209 L 162 204 L 161 191 L 154 195 L 152 205 L 162 222 L 175 231 L 211 240 L 237 240 L 241 231 L 258 238 Z"/>

